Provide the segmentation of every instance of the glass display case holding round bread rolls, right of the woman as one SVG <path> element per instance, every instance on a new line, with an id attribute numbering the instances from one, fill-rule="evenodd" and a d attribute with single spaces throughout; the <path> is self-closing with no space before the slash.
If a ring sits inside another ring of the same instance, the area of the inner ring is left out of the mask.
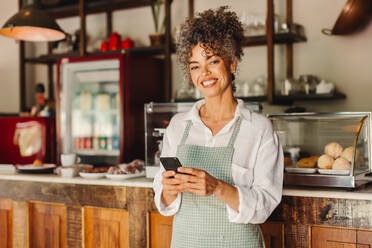
<path id="1" fill-rule="evenodd" d="M 372 181 L 370 112 L 269 118 L 284 150 L 284 184 L 356 188 Z"/>

